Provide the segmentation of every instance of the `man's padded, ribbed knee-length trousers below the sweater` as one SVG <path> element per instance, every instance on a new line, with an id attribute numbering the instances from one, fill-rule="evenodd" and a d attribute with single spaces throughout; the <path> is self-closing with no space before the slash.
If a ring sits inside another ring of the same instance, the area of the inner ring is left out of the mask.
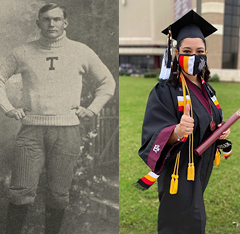
<path id="1" fill-rule="evenodd" d="M 46 204 L 55 209 L 65 208 L 79 154 L 79 126 L 23 125 L 16 139 L 10 202 L 16 205 L 34 202 L 45 166 Z"/>

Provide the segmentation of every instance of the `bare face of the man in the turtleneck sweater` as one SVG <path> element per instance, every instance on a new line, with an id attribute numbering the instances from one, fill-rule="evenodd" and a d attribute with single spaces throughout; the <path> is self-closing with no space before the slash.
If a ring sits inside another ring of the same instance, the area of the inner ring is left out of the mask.
<path id="1" fill-rule="evenodd" d="M 63 34 L 68 26 L 67 19 L 64 19 L 60 8 L 54 8 L 40 15 L 37 26 L 41 29 L 42 35 L 49 39 L 55 39 Z"/>

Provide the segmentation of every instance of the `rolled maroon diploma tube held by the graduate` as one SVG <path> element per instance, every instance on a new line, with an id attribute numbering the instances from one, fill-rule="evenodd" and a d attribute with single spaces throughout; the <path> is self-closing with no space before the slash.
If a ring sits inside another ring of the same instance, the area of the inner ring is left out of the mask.
<path id="1" fill-rule="evenodd" d="M 201 145 L 199 145 L 194 152 L 200 156 L 211 144 L 213 144 L 218 137 L 231 127 L 240 118 L 240 109 L 234 113 L 220 128 L 213 132 Z"/>

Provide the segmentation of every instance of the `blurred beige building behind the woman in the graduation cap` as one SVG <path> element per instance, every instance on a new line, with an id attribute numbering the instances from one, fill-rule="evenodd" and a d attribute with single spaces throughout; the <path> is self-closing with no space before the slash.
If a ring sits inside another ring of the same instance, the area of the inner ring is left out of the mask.
<path id="1" fill-rule="evenodd" d="M 189 10 L 197 11 L 197 4 L 202 17 L 218 29 L 206 38 L 211 74 L 240 81 L 240 0 L 119 0 L 121 69 L 160 69 L 167 46 L 161 31 Z"/>

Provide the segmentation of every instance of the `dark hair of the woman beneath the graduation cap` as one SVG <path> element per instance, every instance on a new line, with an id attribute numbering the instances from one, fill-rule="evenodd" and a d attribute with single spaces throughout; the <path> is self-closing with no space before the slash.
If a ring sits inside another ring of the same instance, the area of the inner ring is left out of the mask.
<path id="1" fill-rule="evenodd" d="M 184 39 L 183 39 L 184 40 Z M 177 43 L 176 45 L 176 49 L 177 51 L 179 51 L 179 47 L 182 45 L 182 41 L 181 40 L 180 42 Z M 205 45 L 205 49 L 207 48 L 206 46 L 206 42 L 203 40 L 204 42 L 204 45 Z M 168 83 L 170 83 L 172 86 L 174 87 L 177 87 L 178 84 L 179 84 L 179 79 L 178 79 L 178 75 L 177 75 L 177 68 L 179 69 L 179 73 L 181 72 L 181 67 L 179 66 L 178 64 L 178 61 L 177 61 L 177 58 L 176 56 L 174 57 L 174 60 L 173 60 L 173 66 L 172 66 L 172 69 L 171 69 L 171 74 L 170 74 L 170 77 L 169 77 L 169 80 L 168 80 Z M 207 65 L 207 61 L 206 61 L 206 64 L 205 64 L 205 72 L 204 72 L 204 75 L 203 75 L 203 72 L 201 71 L 199 74 L 198 74 L 198 79 L 201 80 L 201 77 L 205 80 L 205 82 L 207 82 L 209 80 L 209 77 L 210 77 L 210 71 L 208 69 L 208 65 Z"/>

